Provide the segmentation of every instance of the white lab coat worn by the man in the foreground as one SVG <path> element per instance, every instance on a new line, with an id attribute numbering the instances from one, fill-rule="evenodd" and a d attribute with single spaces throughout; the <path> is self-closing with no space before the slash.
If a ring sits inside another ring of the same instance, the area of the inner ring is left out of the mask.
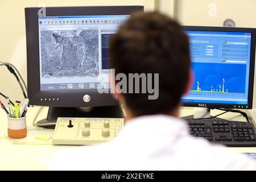
<path id="1" fill-rule="evenodd" d="M 255 170 L 253 159 L 192 137 L 182 119 L 147 115 L 131 119 L 112 142 L 63 150 L 53 170 Z"/>

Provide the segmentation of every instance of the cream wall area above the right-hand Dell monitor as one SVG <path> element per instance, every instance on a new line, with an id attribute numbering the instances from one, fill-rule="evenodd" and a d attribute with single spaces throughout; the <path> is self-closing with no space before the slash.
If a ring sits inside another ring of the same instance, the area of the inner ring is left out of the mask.
<path id="1" fill-rule="evenodd" d="M 176 2 L 177 20 L 183 25 L 223 26 L 226 19 L 233 19 L 236 27 L 256 28 L 255 0 L 159 0 L 160 11 L 174 15 Z M 256 70 L 256 69 L 255 69 Z M 256 83 L 256 74 L 254 77 Z M 254 102 L 256 108 L 256 84 L 254 84 Z"/>

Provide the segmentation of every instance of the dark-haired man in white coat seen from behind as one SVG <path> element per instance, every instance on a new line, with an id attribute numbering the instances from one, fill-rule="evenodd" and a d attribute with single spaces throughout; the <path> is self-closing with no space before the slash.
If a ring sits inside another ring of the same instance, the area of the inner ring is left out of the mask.
<path id="1" fill-rule="evenodd" d="M 116 74 L 158 73 L 159 84 L 154 86 L 159 97 L 116 93 L 126 111 L 121 134 L 113 142 L 59 152 L 51 169 L 256 169 L 242 154 L 192 137 L 186 122 L 178 118 L 181 96 L 193 76 L 188 37 L 177 22 L 159 13 L 133 15 L 110 43 L 110 65 Z"/>

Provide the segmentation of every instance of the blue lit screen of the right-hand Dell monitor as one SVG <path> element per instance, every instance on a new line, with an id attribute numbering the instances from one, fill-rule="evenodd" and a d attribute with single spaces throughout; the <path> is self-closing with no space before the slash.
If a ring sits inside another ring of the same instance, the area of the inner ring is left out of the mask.
<path id="1" fill-rule="evenodd" d="M 195 75 L 183 102 L 248 104 L 251 33 L 186 30 Z"/>

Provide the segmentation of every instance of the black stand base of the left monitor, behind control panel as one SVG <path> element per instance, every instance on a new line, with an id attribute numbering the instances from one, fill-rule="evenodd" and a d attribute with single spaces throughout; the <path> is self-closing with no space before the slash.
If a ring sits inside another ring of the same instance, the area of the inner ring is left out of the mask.
<path id="1" fill-rule="evenodd" d="M 56 122 L 58 117 L 67 118 L 123 118 L 123 111 L 119 105 L 101 107 L 49 107 L 47 118 L 37 123 Z M 42 126 L 55 129 L 55 125 Z"/>

